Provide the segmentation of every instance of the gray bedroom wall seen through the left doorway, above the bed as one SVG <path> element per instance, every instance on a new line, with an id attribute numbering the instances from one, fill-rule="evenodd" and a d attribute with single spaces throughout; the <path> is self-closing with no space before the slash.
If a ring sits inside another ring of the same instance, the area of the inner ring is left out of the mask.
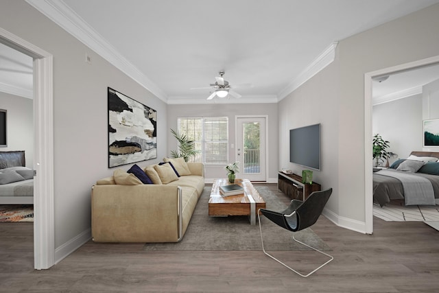
<path id="1" fill-rule="evenodd" d="M 0 109 L 8 110 L 8 146 L 0 152 L 24 150 L 26 167 L 34 167 L 33 100 L 0 92 Z"/>

